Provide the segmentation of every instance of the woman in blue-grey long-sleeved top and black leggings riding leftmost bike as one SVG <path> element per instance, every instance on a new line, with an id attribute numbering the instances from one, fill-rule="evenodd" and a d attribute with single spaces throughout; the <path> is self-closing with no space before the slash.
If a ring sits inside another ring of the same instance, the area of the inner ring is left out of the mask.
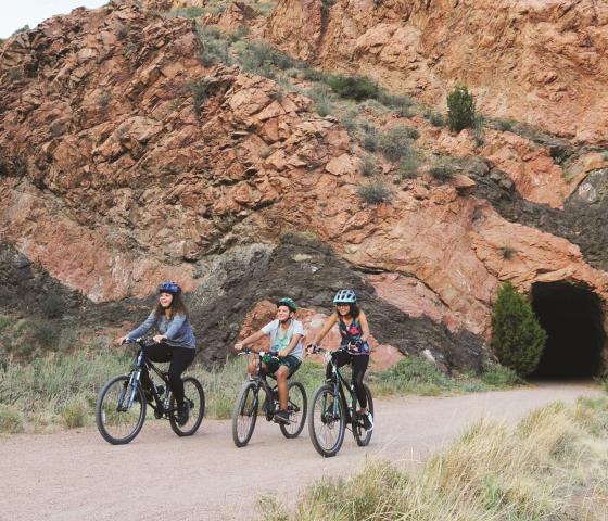
<path id="1" fill-rule="evenodd" d="M 145 356 L 152 361 L 170 361 L 168 379 L 170 390 L 177 403 L 177 423 L 188 422 L 189 410 L 183 401 L 183 382 L 181 373 L 192 364 L 195 354 L 195 340 L 188 320 L 188 309 L 181 300 L 181 288 L 173 281 L 159 285 L 159 302 L 149 317 L 137 329 L 118 339 L 124 342 L 143 336 L 156 327 L 159 334 L 153 336 L 155 344 L 143 348 Z M 145 387 L 151 385 L 148 371 L 141 373 L 141 382 Z"/>

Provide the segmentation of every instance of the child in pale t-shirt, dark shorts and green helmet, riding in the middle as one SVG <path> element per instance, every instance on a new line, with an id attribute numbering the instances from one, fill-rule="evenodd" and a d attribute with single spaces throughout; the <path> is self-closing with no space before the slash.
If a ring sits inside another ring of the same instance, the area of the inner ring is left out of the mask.
<path id="1" fill-rule="evenodd" d="M 289 402 L 289 390 L 287 379 L 291 377 L 302 364 L 302 336 L 304 328 L 300 320 L 295 320 L 297 310 L 295 302 L 291 298 L 281 298 L 277 302 L 277 318 L 264 326 L 259 331 L 249 335 L 246 339 L 235 344 L 236 351 L 241 351 L 244 345 L 256 342 L 263 336 L 270 338 L 270 351 L 277 352 L 277 357 L 263 358 L 262 367 L 277 379 L 280 409 L 275 414 L 275 421 L 289 423 L 287 410 Z M 249 365 L 249 372 L 255 376 L 257 366 Z"/>

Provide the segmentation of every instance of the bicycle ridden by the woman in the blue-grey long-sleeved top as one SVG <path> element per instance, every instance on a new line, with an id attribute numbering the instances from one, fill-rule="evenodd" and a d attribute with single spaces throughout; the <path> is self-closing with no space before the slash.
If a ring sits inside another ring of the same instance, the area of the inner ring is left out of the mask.
<path id="1" fill-rule="evenodd" d="M 152 342 L 149 339 L 125 342 L 139 345 L 129 372 L 112 378 L 99 393 L 96 405 L 97 428 L 103 439 L 112 445 L 129 443 L 139 434 L 145 421 L 147 405 L 153 409 L 156 419 L 168 419 L 178 436 L 191 436 L 203 421 L 205 414 L 203 386 L 195 378 L 187 377 L 183 379 L 183 395 L 190 415 L 186 424 L 180 425 L 177 422 L 177 404 L 169 389 L 168 373 L 156 368 L 143 353 L 143 347 Z M 152 382 L 151 386 L 145 389 L 140 382 L 143 369 L 148 369 Z M 153 382 L 153 372 L 163 383 Z"/>

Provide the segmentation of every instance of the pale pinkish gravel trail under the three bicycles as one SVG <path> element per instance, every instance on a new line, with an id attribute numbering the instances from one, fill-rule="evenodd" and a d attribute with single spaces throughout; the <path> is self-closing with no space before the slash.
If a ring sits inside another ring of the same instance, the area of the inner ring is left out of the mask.
<path id="1" fill-rule="evenodd" d="M 266 421 L 240 449 L 230 422 L 219 420 L 205 420 L 189 439 L 178 439 L 164 422 L 149 422 L 126 446 L 109 445 L 94 428 L 16 435 L 0 440 L 0 520 L 252 519 L 262 494 L 293 504 L 313 480 L 351 473 L 366 457 L 416 465 L 481 417 L 515 422 L 549 402 L 592 394 L 600 392 L 568 383 L 377 401 L 370 446 L 357 447 L 347 432 L 330 459 L 317 455 L 307 429 L 286 440 Z"/>

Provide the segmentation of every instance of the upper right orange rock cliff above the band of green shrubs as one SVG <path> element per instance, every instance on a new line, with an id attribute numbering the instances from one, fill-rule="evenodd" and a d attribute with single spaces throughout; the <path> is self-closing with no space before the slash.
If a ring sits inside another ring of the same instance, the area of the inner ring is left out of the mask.
<path id="1" fill-rule="evenodd" d="M 597 0 L 281 0 L 266 36 L 326 68 L 365 74 L 444 106 L 478 106 L 580 142 L 606 142 L 608 5 Z"/>

